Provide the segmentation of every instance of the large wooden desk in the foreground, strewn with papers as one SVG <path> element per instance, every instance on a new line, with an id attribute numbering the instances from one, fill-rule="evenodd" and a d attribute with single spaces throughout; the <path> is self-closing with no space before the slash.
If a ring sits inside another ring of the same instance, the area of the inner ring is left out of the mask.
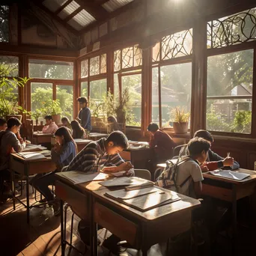
<path id="1" fill-rule="evenodd" d="M 142 213 L 107 198 L 104 194 L 108 191 L 109 189 L 100 186 L 97 181 L 70 185 L 67 180 L 59 178 L 55 183 L 58 198 L 67 201 L 80 218 L 90 219 L 93 238 L 91 245 L 94 245 L 91 246 L 91 255 L 94 256 L 97 255 L 97 224 L 107 228 L 121 240 L 127 240 L 135 249 L 142 249 L 143 255 L 147 255 L 147 250 L 154 244 L 166 242 L 169 237 L 188 231 L 191 228 L 192 209 L 200 206 L 198 200 L 179 195 L 180 201 Z M 61 213 L 63 239 L 63 211 Z M 159 230 L 161 232 L 158 232 Z M 64 245 L 62 242 L 62 255 Z"/>

